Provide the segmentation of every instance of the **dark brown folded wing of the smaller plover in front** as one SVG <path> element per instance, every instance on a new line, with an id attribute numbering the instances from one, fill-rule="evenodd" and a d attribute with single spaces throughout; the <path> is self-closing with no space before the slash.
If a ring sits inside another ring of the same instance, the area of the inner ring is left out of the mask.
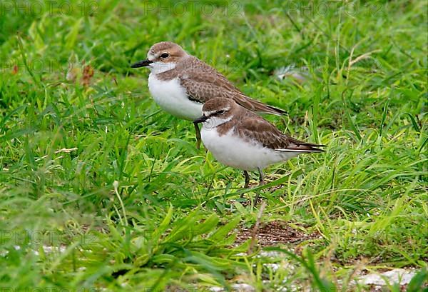
<path id="1" fill-rule="evenodd" d="M 277 151 L 322 152 L 317 147 L 323 145 L 306 143 L 283 134 L 275 126 L 260 116 L 250 116 L 235 126 L 235 131 L 243 139 L 257 141 L 267 148 Z"/>

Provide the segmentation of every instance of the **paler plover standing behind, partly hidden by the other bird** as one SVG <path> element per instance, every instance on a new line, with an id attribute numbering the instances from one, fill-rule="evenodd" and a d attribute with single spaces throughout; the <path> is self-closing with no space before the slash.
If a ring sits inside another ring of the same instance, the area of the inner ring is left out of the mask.
<path id="1" fill-rule="evenodd" d="M 138 61 L 131 67 L 145 66 L 151 70 L 148 89 L 156 104 L 180 119 L 197 119 L 202 115 L 203 104 L 218 96 L 233 99 L 250 111 L 286 114 L 282 109 L 250 99 L 213 67 L 170 41 L 154 44 L 148 51 L 147 59 Z M 195 131 L 199 148 L 200 130 L 197 124 Z"/>

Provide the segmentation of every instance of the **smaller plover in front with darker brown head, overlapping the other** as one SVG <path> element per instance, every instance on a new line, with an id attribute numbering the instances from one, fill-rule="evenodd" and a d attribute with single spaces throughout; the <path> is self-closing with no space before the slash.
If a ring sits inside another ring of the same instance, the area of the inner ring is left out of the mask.
<path id="1" fill-rule="evenodd" d="M 283 134 L 277 127 L 243 106 L 224 97 L 210 99 L 202 108 L 203 116 L 194 121 L 203 123 L 203 144 L 221 163 L 244 171 L 248 188 L 248 171 L 258 170 L 260 185 L 263 168 L 287 161 L 300 153 L 323 152 L 324 145 L 312 144 Z M 258 201 L 258 195 L 255 202 Z"/>

